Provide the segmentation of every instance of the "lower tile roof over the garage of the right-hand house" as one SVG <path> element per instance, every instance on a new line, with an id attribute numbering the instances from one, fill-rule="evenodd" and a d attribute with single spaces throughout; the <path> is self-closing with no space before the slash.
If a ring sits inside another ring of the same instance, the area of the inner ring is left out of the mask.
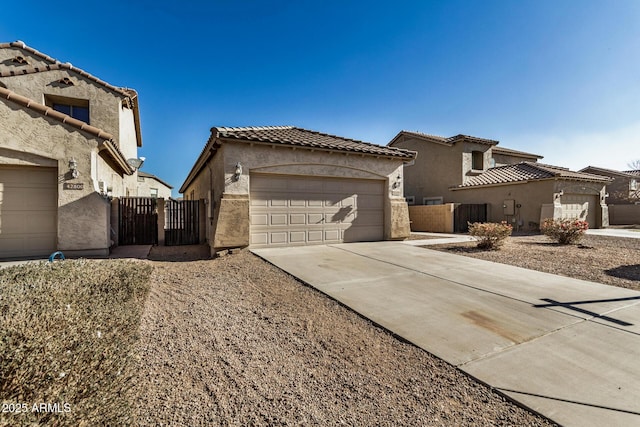
<path id="1" fill-rule="evenodd" d="M 521 162 L 513 165 L 487 169 L 474 176 L 457 188 L 481 187 L 485 185 L 510 184 L 523 181 L 563 178 L 578 181 L 595 181 L 606 184 L 611 179 L 584 172 L 573 172 L 567 168 L 534 162 Z"/>

